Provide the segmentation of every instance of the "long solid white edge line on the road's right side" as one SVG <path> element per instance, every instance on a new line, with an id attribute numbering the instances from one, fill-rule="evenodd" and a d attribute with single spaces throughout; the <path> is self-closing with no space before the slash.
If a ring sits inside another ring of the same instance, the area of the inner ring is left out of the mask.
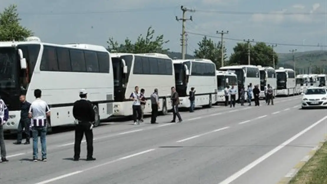
<path id="1" fill-rule="evenodd" d="M 280 149 L 284 148 L 286 145 L 288 145 L 292 141 L 296 140 L 298 137 L 300 137 L 301 135 L 303 135 L 305 132 L 309 131 L 310 129 L 312 129 L 313 127 L 315 127 L 316 125 L 318 125 L 319 123 L 321 123 L 322 121 L 324 121 L 326 119 L 327 119 L 327 116 L 321 118 L 316 123 L 308 126 L 304 130 L 302 130 L 301 132 L 299 132 L 298 134 L 296 134 L 295 136 L 291 137 L 287 141 L 285 141 L 282 144 L 280 144 L 279 146 L 275 147 L 274 149 L 272 149 L 271 151 L 269 151 L 265 155 L 263 155 L 260 158 L 256 159 L 255 161 L 253 161 L 249 165 L 245 166 L 243 169 L 239 170 L 238 172 L 234 173 L 232 176 L 226 178 L 224 181 L 220 182 L 219 184 L 229 184 L 229 183 L 231 183 L 232 181 L 234 181 L 238 177 L 242 176 L 244 173 L 248 172 L 250 169 L 252 169 L 256 165 L 258 165 L 260 162 L 262 162 L 265 159 L 269 158 L 271 155 L 275 154 L 277 151 L 279 151 Z"/>

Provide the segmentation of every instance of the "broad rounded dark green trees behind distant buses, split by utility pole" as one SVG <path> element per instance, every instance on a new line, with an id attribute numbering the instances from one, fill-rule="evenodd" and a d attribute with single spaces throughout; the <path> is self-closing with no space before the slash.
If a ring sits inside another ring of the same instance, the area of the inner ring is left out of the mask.
<path id="1" fill-rule="evenodd" d="M 229 64 L 248 64 L 248 44 L 237 43 L 233 48 Z M 275 65 L 278 63 L 278 55 L 273 51 L 272 47 L 266 45 L 264 42 L 258 42 L 255 45 L 250 45 L 250 64 L 251 65 L 262 65 L 262 66 L 273 66 L 272 58 L 275 58 Z"/>

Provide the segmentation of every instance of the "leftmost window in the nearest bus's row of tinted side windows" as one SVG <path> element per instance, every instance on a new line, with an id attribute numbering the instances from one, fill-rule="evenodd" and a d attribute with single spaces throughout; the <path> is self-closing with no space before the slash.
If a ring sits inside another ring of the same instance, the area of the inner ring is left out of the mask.
<path id="1" fill-rule="evenodd" d="M 55 47 L 44 46 L 40 70 L 58 71 L 57 51 Z"/>

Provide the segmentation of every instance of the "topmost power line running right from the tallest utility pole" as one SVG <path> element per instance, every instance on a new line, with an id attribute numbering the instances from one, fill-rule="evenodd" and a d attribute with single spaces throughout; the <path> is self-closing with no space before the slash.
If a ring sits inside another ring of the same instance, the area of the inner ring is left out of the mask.
<path id="1" fill-rule="evenodd" d="M 196 10 L 197 12 L 212 12 L 218 14 L 232 14 L 232 15 L 252 15 L 252 14 L 264 14 L 264 15 L 325 15 L 325 12 L 240 12 L 240 11 L 220 11 L 220 10 Z"/>

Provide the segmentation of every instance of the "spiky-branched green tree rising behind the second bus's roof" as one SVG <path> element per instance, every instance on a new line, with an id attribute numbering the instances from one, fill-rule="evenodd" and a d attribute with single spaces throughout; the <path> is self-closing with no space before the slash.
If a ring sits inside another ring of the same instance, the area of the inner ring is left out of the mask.
<path id="1" fill-rule="evenodd" d="M 142 34 L 137 38 L 135 43 L 127 37 L 124 43 L 118 43 L 113 38 L 109 38 L 108 50 L 115 50 L 120 53 L 167 53 L 168 48 L 164 49 L 163 45 L 168 43 L 163 39 L 163 35 L 154 37 L 154 29 L 150 26 L 147 29 L 146 36 Z"/>

